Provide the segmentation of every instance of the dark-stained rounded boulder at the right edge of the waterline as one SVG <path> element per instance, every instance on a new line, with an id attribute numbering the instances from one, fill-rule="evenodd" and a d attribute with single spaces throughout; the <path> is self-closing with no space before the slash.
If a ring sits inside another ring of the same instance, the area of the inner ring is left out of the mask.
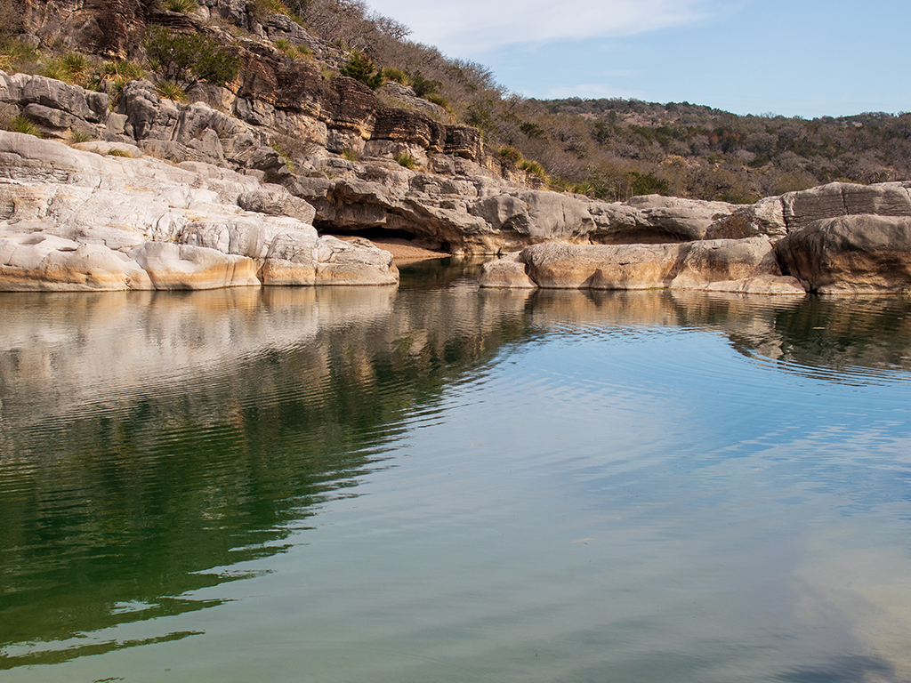
<path id="1" fill-rule="evenodd" d="M 775 245 L 783 269 L 823 294 L 911 292 L 911 217 L 820 219 Z"/>

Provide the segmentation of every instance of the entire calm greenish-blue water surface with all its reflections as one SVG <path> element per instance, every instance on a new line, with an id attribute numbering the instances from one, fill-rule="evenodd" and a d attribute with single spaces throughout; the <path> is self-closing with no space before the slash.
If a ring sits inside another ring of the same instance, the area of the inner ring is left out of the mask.
<path id="1" fill-rule="evenodd" d="M 907 681 L 911 300 L 0 294 L 0 680 Z"/>

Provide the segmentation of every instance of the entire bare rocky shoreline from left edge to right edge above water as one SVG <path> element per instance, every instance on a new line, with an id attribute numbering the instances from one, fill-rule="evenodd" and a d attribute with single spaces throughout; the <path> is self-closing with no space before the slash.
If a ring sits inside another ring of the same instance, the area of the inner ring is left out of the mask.
<path id="1" fill-rule="evenodd" d="M 911 291 L 909 182 L 606 203 L 503 178 L 476 131 L 384 108 L 353 79 L 321 92 L 254 117 L 251 93 L 230 115 L 138 80 L 112 110 L 105 93 L 0 72 L 0 104 L 56 138 L 0 132 L 0 290 L 394 285 L 376 238 L 418 258 L 502 256 L 488 288 Z M 322 130 L 294 163 L 269 144 L 289 127 Z"/>

